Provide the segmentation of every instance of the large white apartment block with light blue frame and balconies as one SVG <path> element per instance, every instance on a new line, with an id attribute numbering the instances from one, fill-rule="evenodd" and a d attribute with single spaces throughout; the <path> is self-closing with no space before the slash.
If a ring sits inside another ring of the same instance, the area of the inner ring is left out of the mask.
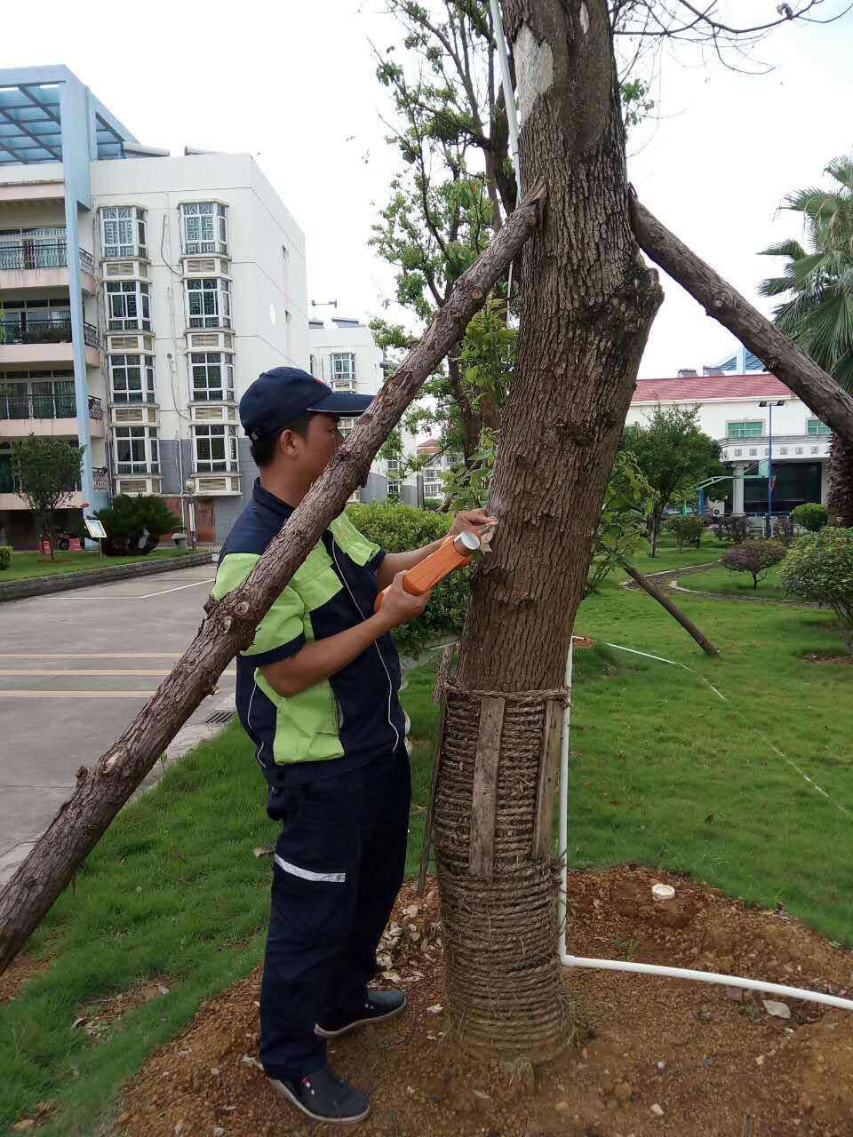
<path id="1" fill-rule="evenodd" d="M 74 506 L 163 493 L 220 540 L 256 468 L 238 402 L 308 363 L 305 241 L 249 155 L 141 146 L 65 67 L 0 70 L 0 524 L 11 440 L 85 446 Z M 78 516 L 78 514 L 77 514 Z"/>

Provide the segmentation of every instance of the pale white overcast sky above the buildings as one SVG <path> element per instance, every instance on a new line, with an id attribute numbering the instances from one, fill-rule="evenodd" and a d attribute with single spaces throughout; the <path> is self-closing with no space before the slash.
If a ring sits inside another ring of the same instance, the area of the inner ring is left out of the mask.
<path id="1" fill-rule="evenodd" d="M 388 97 L 371 47 L 397 39 L 381 0 L 42 0 L 38 35 L 26 5 L 7 7 L 0 66 L 65 64 L 140 142 L 255 155 L 305 232 L 309 305 L 384 310 L 394 273 L 367 242 L 399 164 L 384 141 Z M 776 14 L 773 0 L 729 8 L 738 18 Z M 757 56 L 775 69 L 743 75 L 690 49 L 665 53 L 655 115 L 629 138 L 629 176 L 660 221 L 769 313 L 756 284 L 779 263 L 759 252 L 801 235 L 779 209 L 785 194 L 821 184 L 829 159 L 853 149 L 853 13 L 830 26 L 785 25 Z M 717 363 L 732 337 L 662 283 L 640 376 Z"/>

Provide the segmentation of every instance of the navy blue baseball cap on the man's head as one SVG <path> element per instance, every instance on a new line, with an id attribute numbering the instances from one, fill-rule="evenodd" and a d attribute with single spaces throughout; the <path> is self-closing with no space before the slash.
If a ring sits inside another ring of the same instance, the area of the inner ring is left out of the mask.
<path id="1" fill-rule="evenodd" d="M 299 367 L 273 367 L 258 375 L 240 399 L 240 422 L 256 442 L 275 434 L 306 410 L 323 415 L 361 415 L 372 395 L 333 391 Z"/>

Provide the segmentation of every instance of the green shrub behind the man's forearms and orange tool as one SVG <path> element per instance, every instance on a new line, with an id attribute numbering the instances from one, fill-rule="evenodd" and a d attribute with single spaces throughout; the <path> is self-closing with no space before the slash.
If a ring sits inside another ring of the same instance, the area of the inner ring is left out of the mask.
<path id="1" fill-rule="evenodd" d="M 407 553 L 430 545 L 447 533 L 453 520 L 450 514 L 386 501 L 350 505 L 347 516 L 359 532 L 387 553 Z M 436 586 L 420 620 L 395 629 L 400 652 L 416 655 L 426 644 L 459 632 L 465 622 L 467 598 L 469 570 L 457 568 Z"/>

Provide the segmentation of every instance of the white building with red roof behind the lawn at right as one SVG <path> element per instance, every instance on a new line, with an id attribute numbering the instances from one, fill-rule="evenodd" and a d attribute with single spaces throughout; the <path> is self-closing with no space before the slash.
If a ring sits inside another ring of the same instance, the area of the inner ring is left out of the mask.
<path id="1" fill-rule="evenodd" d="M 744 372 L 745 367 L 752 370 Z M 829 428 L 743 348 L 703 371 L 703 375 L 685 370 L 674 379 L 638 380 L 627 421 L 643 423 L 659 405 L 698 410 L 699 426 L 720 443 L 721 460 L 732 475 L 709 485 L 709 509 L 765 514 L 768 459 L 775 514 L 788 513 L 803 501 L 826 503 Z"/>

